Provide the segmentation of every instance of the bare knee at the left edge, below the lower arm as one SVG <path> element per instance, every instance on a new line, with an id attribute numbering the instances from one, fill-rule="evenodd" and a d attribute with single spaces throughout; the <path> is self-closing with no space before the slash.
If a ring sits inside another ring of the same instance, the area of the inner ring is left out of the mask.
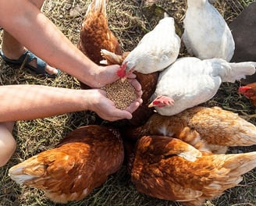
<path id="1" fill-rule="evenodd" d="M 5 165 L 16 150 L 16 140 L 12 137 L 14 122 L 0 123 L 0 167 Z"/>

